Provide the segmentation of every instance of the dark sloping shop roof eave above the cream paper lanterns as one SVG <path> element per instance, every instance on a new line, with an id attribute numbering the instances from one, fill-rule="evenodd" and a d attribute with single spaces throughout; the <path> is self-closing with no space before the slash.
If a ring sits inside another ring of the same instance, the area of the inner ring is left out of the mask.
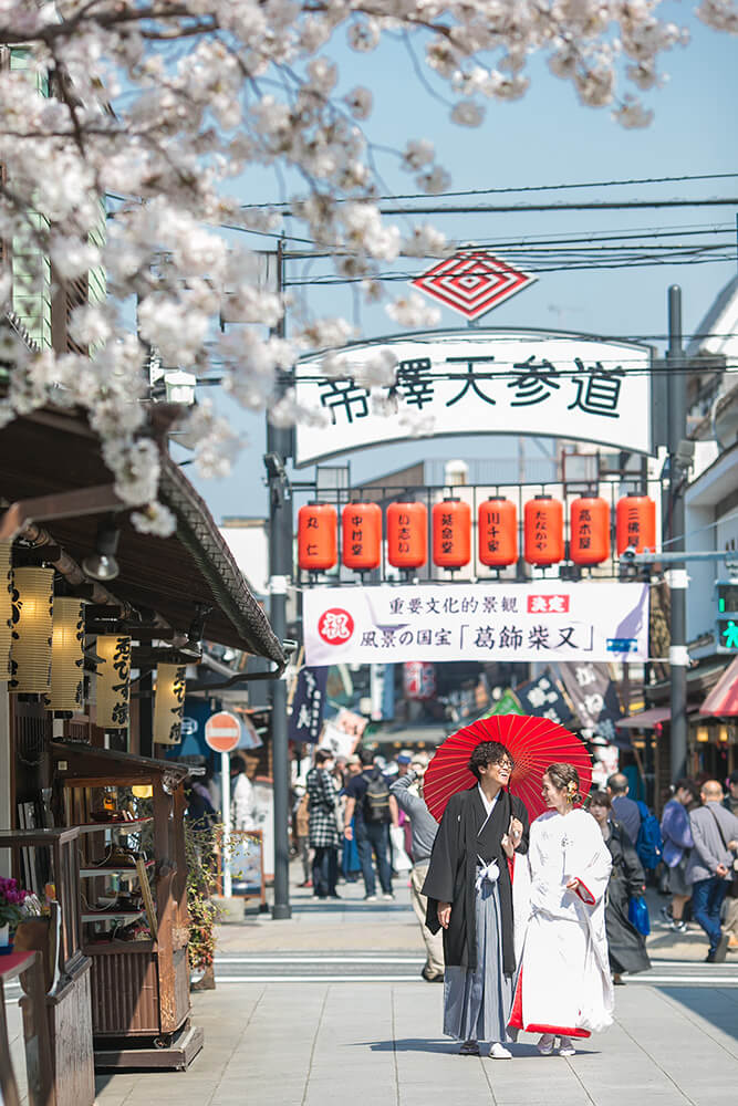
<path id="1" fill-rule="evenodd" d="M 0 497 L 7 503 L 112 483 L 100 441 L 77 416 L 40 410 L 2 430 Z M 110 591 L 139 612 L 155 612 L 186 633 L 207 608 L 204 636 L 284 662 L 281 644 L 222 539 L 205 502 L 181 469 L 162 455 L 162 501 L 177 520 L 170 538 L 141 534 L 129 510 L 115 515 L 119 575 Z M 77 514 L 40 524 L 76 564 L 95 550 L 100 515 Z"/>

